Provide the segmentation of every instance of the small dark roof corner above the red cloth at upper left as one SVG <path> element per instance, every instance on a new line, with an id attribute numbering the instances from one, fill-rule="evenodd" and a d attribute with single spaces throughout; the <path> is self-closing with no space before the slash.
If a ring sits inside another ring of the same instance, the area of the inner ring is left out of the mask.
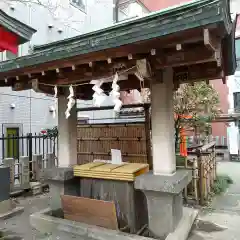
<path id="1" fill-rule="evenodd" d="M 19 36 L 19 45 L 31 40 L 32 35 L 36 32 L 32 27 L 18 21 L 17 19 L 7 15 L 0 9 L 0 26 Z"/>

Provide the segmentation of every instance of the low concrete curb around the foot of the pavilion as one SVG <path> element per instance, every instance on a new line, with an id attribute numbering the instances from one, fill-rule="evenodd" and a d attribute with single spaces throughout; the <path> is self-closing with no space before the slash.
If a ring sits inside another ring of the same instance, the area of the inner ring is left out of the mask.
<path id="1" fill-rule="evenodd" d="M 171 233 L 166 240 L 186 240 L 193 221 L 197 216 L 196 210 L 184 208 L 183 218 L 175 232 Z M 81 240 L 154 240 L 138 235 L 109 230 L 84 223 L 74 222 L 52 216 L 50 209 L 42 210 L 30 216 L 31 226 L 46 234 L 51 239 L 54 236 L 61 236 L 62 239 Z"/>

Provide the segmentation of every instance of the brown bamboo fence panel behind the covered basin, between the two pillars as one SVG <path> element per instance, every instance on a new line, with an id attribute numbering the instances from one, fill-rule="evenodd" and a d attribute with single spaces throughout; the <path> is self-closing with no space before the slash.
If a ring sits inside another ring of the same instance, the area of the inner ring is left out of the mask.
<path id="1" fill-rule="evenodd" d="M 124 162 L 148 163 L 145 123 L 78 125 L 78 164 L 110 160 L 120 149 Z"/>

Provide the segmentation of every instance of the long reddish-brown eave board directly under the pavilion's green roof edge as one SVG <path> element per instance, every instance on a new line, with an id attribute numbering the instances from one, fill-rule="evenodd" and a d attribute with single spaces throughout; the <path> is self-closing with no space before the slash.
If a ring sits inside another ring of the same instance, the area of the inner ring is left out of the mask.
<path id="1" fill-rule="evenodd" d="M 9 72 L 0 73 L 0 78 L 5 77 L 15 77 L 16 75 L 26 75 L 33 73 L 41 73 L 41 71 L 55 70 L 56 68 L 72 67 L 72 65 L 89 64 L 96 61 L 106 61 L 108 58 L 122 58 L 127 57 L 129 53 L 131 54 L 147 54 L 151 53 L 151 49 L 157 49 L 159 46 L 161 48 L 173 47 L 176 49 L 176 44 L 193 43 L 202 40 L 202 30 L 189 29 L 184 32 L 177 32 L 175 34 L 167 35 L 159 39 L 152 39 L 147 41 L 142 41 L 135 44 L 124 45 L 117 48 L 106 49 L 104 51 L 88 53 L 84 55 L 75 56 L 68 59 L 61 59 L 52 62 L 46 62 L 38 65 L 15 69 Z"/>

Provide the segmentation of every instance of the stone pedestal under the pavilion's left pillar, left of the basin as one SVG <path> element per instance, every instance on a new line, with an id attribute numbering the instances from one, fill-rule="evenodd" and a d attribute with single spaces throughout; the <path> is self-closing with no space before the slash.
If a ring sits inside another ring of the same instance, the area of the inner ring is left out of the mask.
<path id="1" fill-rule="evenodd" d="M 79 179 L 73 176 L 72 168 L 52 168 L 44 170 L 45 182 L 49 185 L 50 207 L 60 209 L 61 195 L 79 196 Z"/>

